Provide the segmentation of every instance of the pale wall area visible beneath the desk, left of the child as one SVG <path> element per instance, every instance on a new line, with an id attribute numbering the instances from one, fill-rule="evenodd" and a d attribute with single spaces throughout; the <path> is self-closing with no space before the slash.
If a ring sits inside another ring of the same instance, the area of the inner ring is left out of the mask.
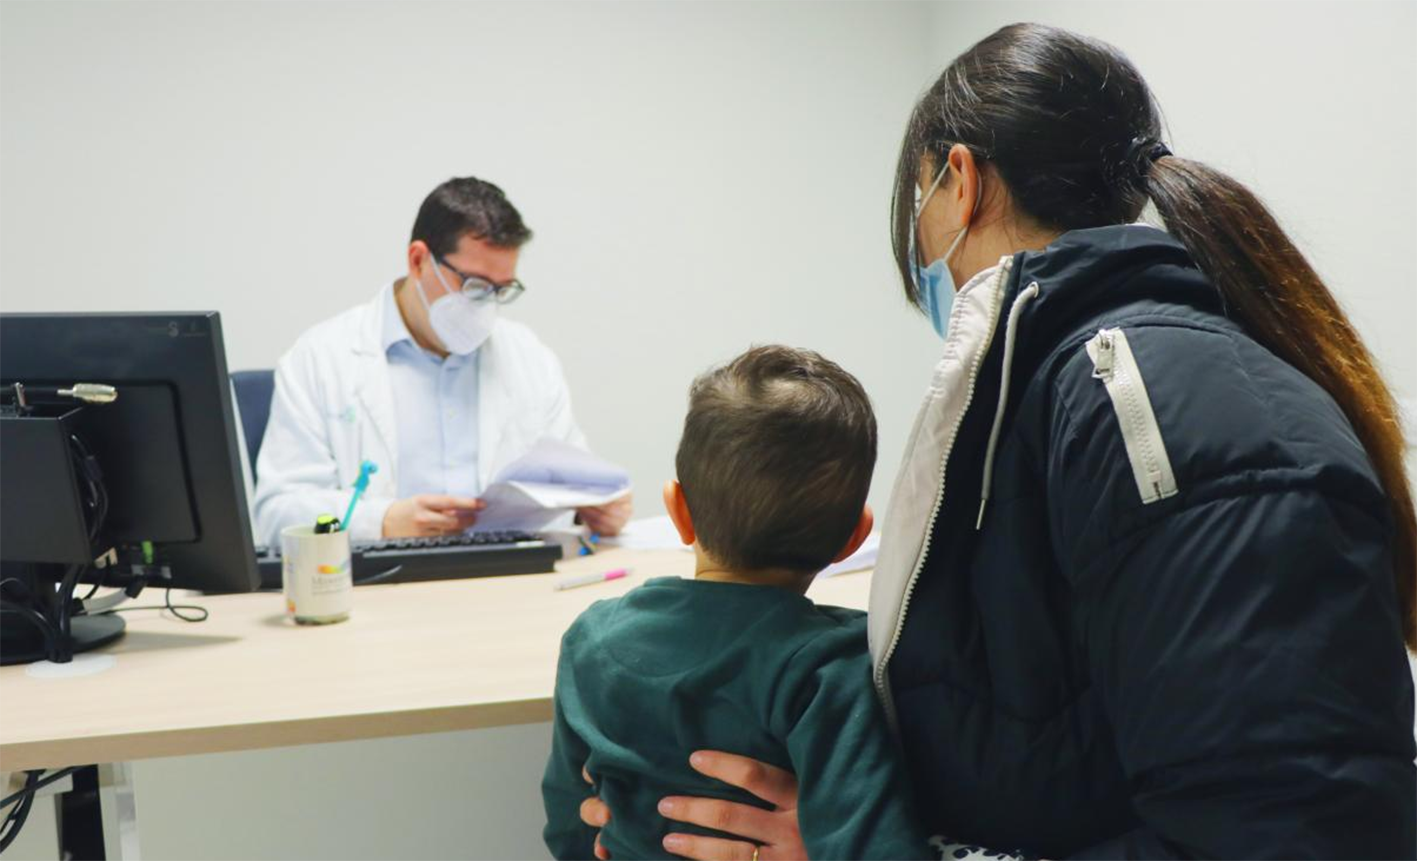
<path id="1" fill-rule="evenodd" d="M 546 858 L 550 753 L 550 724 L 530 724 L 139 762 L 142 857 Z"/>

